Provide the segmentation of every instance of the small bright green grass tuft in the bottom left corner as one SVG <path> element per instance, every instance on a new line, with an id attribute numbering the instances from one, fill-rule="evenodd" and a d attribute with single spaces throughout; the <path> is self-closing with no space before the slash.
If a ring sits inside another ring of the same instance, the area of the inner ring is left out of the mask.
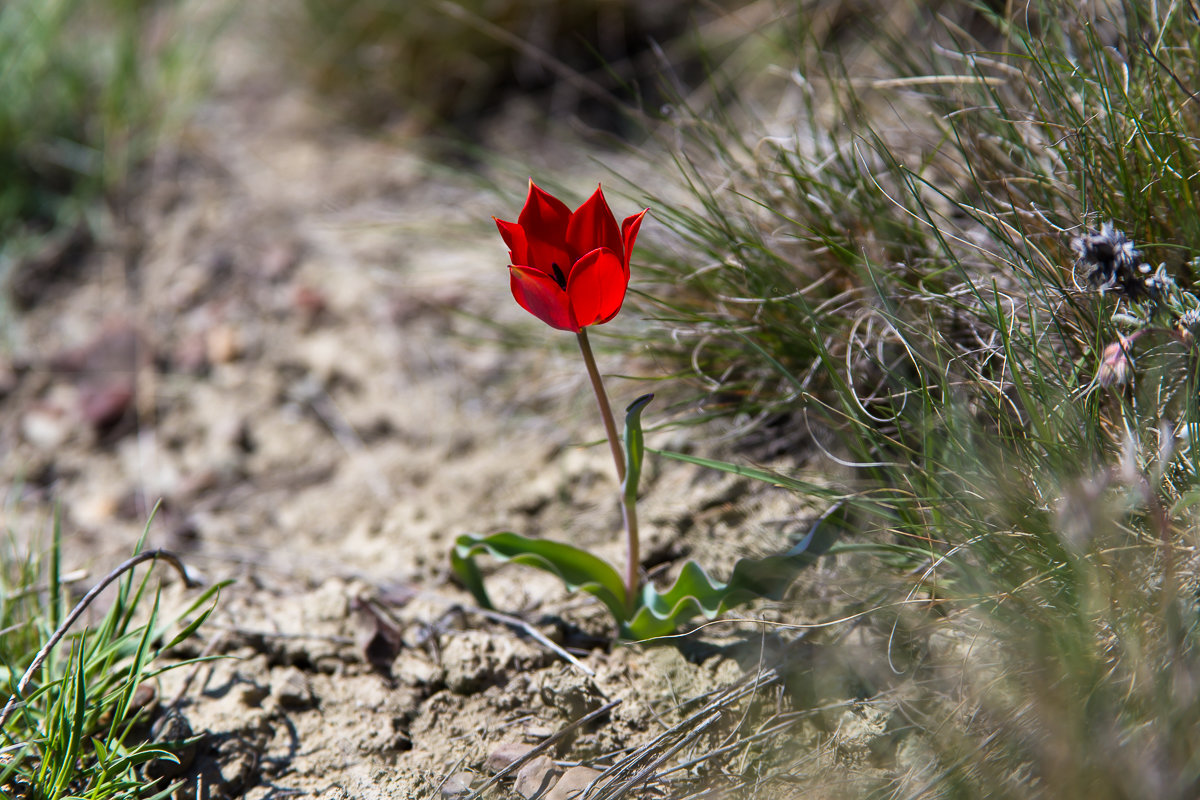
<path id="1" fill-rule="evenodd" d="M 154 705 L 139 704 L 138 690 L 164 670 L 160 656 L 204 622 L 221 585 L 164 618 L 149 569 L 139 579 L 126 570 L 98 622 L 62 637 L 71 618 L 58 525 L 47 560 L 13 541 L 0 557 L 0 790 L 38 800 L 169 795 L 175 787 L 143 770 L 176 760 L 184 742 L 149 740 Z"/>

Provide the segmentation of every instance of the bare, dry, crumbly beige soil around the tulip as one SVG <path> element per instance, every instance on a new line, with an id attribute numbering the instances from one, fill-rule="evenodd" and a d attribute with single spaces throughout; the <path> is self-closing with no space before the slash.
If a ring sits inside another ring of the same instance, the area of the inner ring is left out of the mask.
<path id="1" fill-rule="evenodd" d="M 498 205 L 253 61 L 228 61 L 112 241 L 18 272 L 29 303 L 0 361 L 11 529 L 44 530 L 61 503 L 82 590 L 161 501 L 148 545 L 234 581 L 175 654 L 230 657 L 160 680 L 156 732 L 203 734 L 160 774 L 185 778 L 180 798 L 450 798 L 547 745 L 487 793 L 562 798 L 640 747 L 636 770 L 691 736 L 654 776 L 730 741 L 754 721 L 746 698 L 775 697 L 739 684 L 760 631 L 612 646 L 598 604 L 522 567 L 492 573 L 498 604 L 572 666 L 446 579 L 466 531 L 620 558 L 607 451 L 580 446 L 600 429 L 572 342 L 509 295 L 491 215 L 516 211 L 520 182 Z M 564 182 L 596 180 L 572 173 L 583 156 L 552 157 Z M 598 344 L 604 371 L 653 374 Z M 623 404 L 644 389 L 610 392 Z M 647 566 L 667 575 L 689 553 L 720 573 L 811 519 L 786 493 L 683 464 L 652 464 L 644 488 Z M 713 716 L 728 687 L 743 699 Z M 720 786 L 724 769 L 629 796 Z"/>

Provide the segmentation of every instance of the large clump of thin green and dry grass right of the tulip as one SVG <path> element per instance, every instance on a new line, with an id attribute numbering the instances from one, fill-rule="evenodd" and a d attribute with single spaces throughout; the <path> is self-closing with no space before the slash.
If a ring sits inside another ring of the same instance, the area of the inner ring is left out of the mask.
<path id="1" fill-rule="evenodd" d="M 1114 221 L 1194 282 L 1200 26 L 1189 4 L 1007 7 L 798 12 L 760 52 L 770 85 L 677 98 L 677 180 L 649 197 L 676 239 L 642 285 L 659 356 L 853 501 L 840 588 L 887 648 L 854 666 L 895 726 L 872 763 L 760 788 L 1200 789 L 1198 350 L 1147 337 L 1102 386 L 1158 312 L 1070 249 Z"/>

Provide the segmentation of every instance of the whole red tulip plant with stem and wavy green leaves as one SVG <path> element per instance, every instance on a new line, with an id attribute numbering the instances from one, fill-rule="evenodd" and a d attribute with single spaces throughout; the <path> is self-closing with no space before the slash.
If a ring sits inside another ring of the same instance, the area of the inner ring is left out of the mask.
<path id="1" fill-rule="evenodd" d="M 642 411 L 654 396 L 643 395 L 626 407 L 624 437 L 618 437 L 608 395 L 588 343 L 588 327 L 607 323 L 620 311 L 629 288 L 629 258 L 648 210 L 626 217 L 618 225 L 599 187 L 571 211 L 530 180 L 529 194 L 516 222 L 492 217 L 509 247 L 512 296 L 551 327 L 574 332 L 580 343 L 620 485 L 625 569 L 620 575 L 607 560 L 568 542 L 511 531 L 491 536 L 463 534 L 455 541 L 450 566 L 480 608 L 493 608 L 475 564 L 476 555 L 488 554 L 558 576 L 569 590 L 586 591 L 602 602 L 620 636 L 647 639 L 671 633 L 697 613 L 713 619 L 751 597 L 781 599 L 791 583 L 790 570 L 811 563 L 823 552 L 818 548 L 828 548 L 828 535 L 817 539 L 818 530 L 814 527 L 804 541 L 784 555 L 739 560 L 727 582 L 709 578 L 698 564 L 689 561 L 665 591 L 653 584 L 643 585 L 637 531 L 638 480 L 647 452 Z M 730 471 L 744 474 L 740 468 L 730 467 Z M 835 505 L 822 519 L 842 505 Z M 814 546 L 814 542 L 822 543 Z"/>

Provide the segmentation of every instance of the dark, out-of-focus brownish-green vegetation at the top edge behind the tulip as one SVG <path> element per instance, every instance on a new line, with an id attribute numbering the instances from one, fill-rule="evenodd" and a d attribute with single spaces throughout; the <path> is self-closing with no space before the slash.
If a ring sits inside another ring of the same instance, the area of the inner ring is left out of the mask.
<path id="1" fill-rule="evenodd" d="M 743 4 L 302 0 L 283 41 L 300 74 L 359 124 L 449 124 L 469 136 L 521 96 L 548 119 L 619 128 L 630 107 L 653 106 L 659 88 L 646 77 L 668 59 L 694 64 L 697 26 Z"/>

